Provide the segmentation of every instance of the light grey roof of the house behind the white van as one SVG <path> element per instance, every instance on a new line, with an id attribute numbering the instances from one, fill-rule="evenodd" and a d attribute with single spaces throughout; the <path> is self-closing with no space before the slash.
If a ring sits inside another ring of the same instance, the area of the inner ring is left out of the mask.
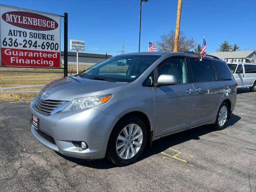
<path id="1" fill-rule="evenodd" d="M 218 58 L 248 58 L 250 54 L 256 51 L 232 51 L 232 52 L 212 52 L 210 55 L 216 56 Z"/>

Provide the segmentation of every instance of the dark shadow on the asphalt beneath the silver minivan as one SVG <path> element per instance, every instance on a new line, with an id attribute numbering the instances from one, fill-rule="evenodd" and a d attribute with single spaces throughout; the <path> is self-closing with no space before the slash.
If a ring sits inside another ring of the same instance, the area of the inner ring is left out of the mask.
<path id="1" fill-rule="evenodd" d="M 232 114 L 231 120 L 227 122 L 226 128 L 229 126 L 234 125 L 236 122 L 238 122 L 241 119 L 240 116 Z M 209 125 L 203 125 L 200 127 L 196 127 L 190 130 L 186 130 L 183 132 L 179 132 L 170 136 L 166 136 L 163 138 L 160 138 L 152 143 L 151 148 L 146 148 L 140 158 L 137 161 L 141 161 L 145 158 L 148 158 L 154 154 L 161 153 L 165 151 L 166 149 L 181 144 L 183 142 L 189 141 L 189 140 L 200 140 L 200 136 L 208 134 L 210 132 L 216 131 Z M 56 152 L 59 156 L 62 158 L 65 158 L 66 160 L 69 160 L 71 162 L 74 162 L 81 166 L 87 166 L 90 168 L 96 168 L 96 169 L 110 169 L 116 167 L 114 164 L 110 163 L 108 160 L 100 159 L 100 160 L 83 160 L 78 158 L 72 158 L 68 156 L 64 156 L 58 152 Z"/>

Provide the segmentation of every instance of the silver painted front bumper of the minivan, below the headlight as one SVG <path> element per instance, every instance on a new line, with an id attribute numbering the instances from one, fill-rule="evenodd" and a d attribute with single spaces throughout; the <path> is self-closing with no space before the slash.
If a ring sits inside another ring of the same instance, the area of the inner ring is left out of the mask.
<path id="1" fill-rule="evenodd" d="M 32 114 L 40 119 L 39 130 L 51 136 L 55 144 L 39 134 L 31 126 L 31 132 L 42 144 L 60 152 L 63 155 L 83 159 L 104 158 L 108 139 L 117 118 L 100 112 L 94 108 L 84 110 L 59 112 L 46 116 L 34 108 L 34 101 L 30 104 L 29 119 Z M 84 141 L 88 148 L 76 147 L 72 141 Z"/>

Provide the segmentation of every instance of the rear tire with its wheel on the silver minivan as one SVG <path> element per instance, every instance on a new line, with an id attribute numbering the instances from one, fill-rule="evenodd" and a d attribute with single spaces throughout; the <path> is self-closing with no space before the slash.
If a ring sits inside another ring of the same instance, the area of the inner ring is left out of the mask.
<path id="1" fill-rule="evenodd" d="M 225 108 L 226 108 L 226 110 L 225 110 Z M 223 110 L 225 110 L 226 113 L 223 114 L 223 112 L 224 112 Z M 216 121 L 215 121 L 214 124 L 212 124 L 212 128 L 214 128 L 216 130 L 223 130 L 225 128 L 226 122 L 228 121 L 229 110 L 230 109 L 228 107 L 228 104 L 226 102 L 223 102 L 220 105 L 220 108 L 218 110 L 218 114 L 217 114 L 217 117 L 216 117 Z M 222 114 L 223 114 L 223 116 L 222 116 Z"/>

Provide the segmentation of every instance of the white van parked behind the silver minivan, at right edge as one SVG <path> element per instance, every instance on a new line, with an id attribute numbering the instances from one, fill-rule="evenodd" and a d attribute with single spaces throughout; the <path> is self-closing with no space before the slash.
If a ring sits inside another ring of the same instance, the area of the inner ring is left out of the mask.
<path id="1" fill-rule="evenodd" d="M 256 64 L 253 63 L 227 63 L 234 75 L 237 88 L 250 88 L 251 92 L 256 91 Z"/>

